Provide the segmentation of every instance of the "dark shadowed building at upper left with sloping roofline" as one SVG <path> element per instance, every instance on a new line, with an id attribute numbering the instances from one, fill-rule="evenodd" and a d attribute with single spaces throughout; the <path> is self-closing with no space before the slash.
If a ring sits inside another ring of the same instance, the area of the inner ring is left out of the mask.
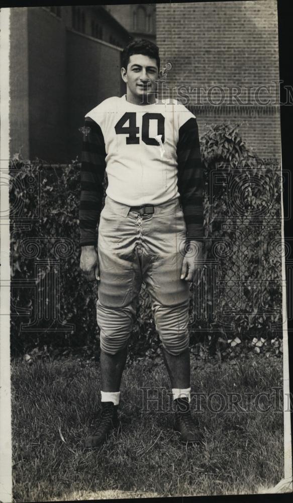
<path id="1" fill-rule="evenodd" d="M 11 9 L 11 155 L 79 155 L 85 113 L 125 92 L 121 52 L 130 40 L 102 6 Z"/>

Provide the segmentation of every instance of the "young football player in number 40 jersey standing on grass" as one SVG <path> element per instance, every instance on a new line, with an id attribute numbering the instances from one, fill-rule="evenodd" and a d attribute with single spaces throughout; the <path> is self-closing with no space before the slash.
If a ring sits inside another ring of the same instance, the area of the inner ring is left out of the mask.
<path id="1" fill-rule="evenodd" d="M 147 285 L 182 442 L 201 442 L 189 408 L 189 282 L 203 237 L 197 120 L 174 100 L 158 101 L 158 48 L 135 40 L 123 51 L 127 94 L 85 116 L 81 167 L 80 267 L 98 281 L 102 413 L 86 439 L 100 446 L 117 425 L 122 372 L 142 281 Z M 105 169 L 108 188 L 101 212 Z M 180 199 L 179 199 L 180 198 Z M 96 225 L 100 216 L 99 236 Z M 97 241 L 97 243 L 96 243 Z M 97 244 L 97 250 L 96 250 Z"/>

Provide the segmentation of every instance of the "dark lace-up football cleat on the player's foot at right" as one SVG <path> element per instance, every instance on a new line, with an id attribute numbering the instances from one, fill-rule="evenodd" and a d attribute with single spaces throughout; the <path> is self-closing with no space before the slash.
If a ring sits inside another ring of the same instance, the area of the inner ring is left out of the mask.
<path id="1" fill-rule="evenodd" d="M 202 444 L 204 437 L 198 422 L 192 420 L 188 398 L 177 398 L 174 403 L 176 405 L 174 430 L 180 433 L 180 441 Z"/>

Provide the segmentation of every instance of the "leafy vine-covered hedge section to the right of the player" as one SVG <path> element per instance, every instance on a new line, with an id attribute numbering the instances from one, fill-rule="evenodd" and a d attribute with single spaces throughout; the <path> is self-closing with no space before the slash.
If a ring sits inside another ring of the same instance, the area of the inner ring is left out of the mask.
<path id="1" fill-rule="evenodd" d="M 205 262 L 216 260 L 218 288 L 212 323 L 196 323 L 198 334 L 213 327 L 210 349 L 220 340 L 224 355 L 232 356 L 243 347 L 235 338 L 258 352 L 262 344 L 252 340 L 280 336 L 282 323 L 280 166 L 259 158 L 238 130 L 239 124 L 212 125 L 201 140 Z M 211 285 L 204 287 L 213 304 Z"/>

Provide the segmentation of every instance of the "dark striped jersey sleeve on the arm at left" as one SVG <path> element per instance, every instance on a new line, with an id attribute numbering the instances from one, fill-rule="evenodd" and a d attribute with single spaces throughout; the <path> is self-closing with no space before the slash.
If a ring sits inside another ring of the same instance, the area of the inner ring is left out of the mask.
<path id="1" fill-rule="evenodd" d="M 81 154 L 79 228 L 81 246 L 97 243 L 96 225 L 102 209 L 106 150 L 101 127 L 87 117 Z"/>

